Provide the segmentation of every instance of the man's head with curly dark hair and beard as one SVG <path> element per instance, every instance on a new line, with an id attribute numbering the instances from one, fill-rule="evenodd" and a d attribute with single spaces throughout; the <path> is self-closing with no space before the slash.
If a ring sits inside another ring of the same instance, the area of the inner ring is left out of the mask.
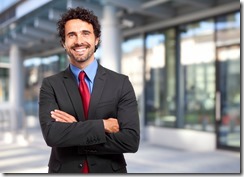
<path id="1" fill-rule="evenodd" d="M 92 11 L 80 7 L 69 9 L 57 25 L 70 63 L 80 68 L 91 63 L 101 35 L 100 24 Z"/>

